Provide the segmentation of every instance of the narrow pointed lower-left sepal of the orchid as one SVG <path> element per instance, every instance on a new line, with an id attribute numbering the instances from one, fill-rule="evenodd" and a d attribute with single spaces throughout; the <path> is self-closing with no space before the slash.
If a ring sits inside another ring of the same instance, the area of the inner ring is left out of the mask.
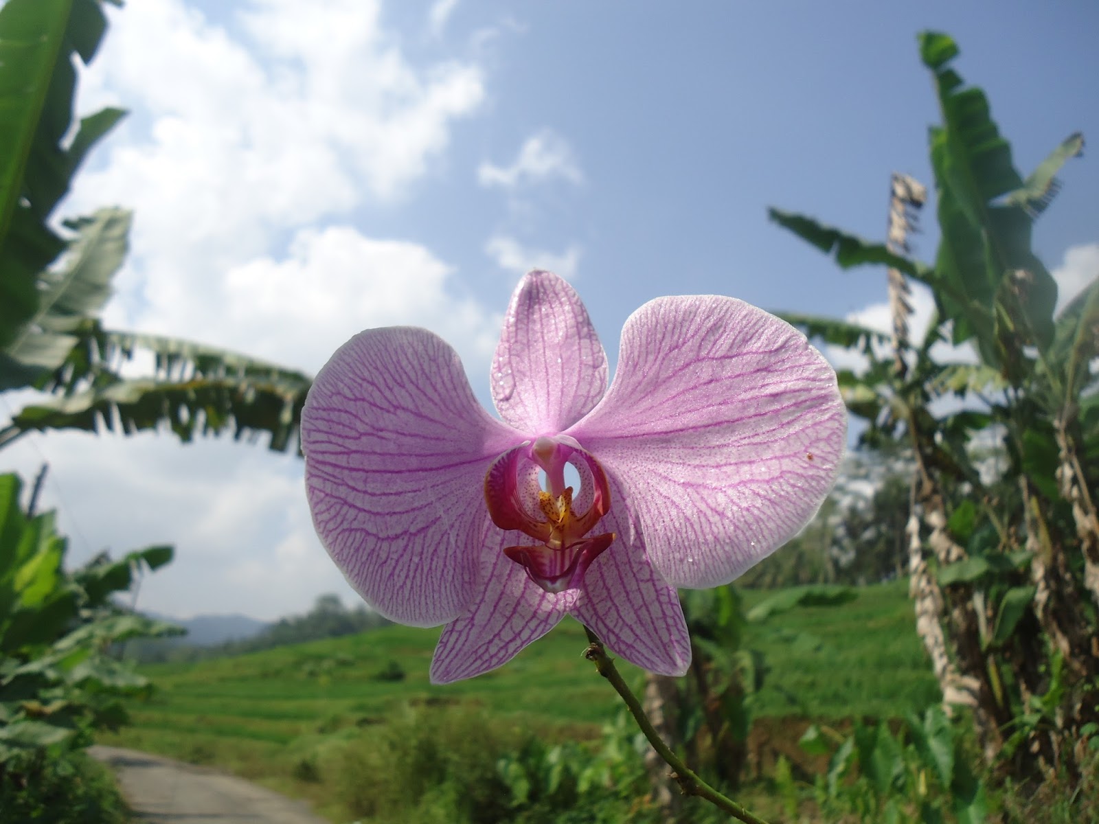
<path id="1" fill-rule="evenodd" d="M 519 532 L 495 530 L 487 541 L 514 544 Z M 576 601 L 576 590 L 556 594 L 534 583 L 500 548 L 481 553 L 478 599 L 471 612 L 448 624 L 431 661 L 431 682 L 449 683 L 496 669 L 553 630 Z"/>

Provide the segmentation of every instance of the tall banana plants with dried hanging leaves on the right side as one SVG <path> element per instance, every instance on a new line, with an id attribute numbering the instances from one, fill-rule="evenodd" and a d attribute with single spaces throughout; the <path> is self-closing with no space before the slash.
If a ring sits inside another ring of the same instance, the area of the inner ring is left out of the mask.
<path id="1" fill-rule="evenodd" d="M 1067 759 L 1073 772 L 1067 745 L 1099 722 L 1099 281 L 1055 314 L 1057 288 L 1031 233 L 1083 137 L 1023 178 L 985 93 L 953 67 L 956 44 L 924 33 L 920 54 L 942 113 L 930 131 L 933 265 L 811 218 L 770 216 L 843 268 L 887 265 L 931 288 L 935 315 L 896 360 L 851 341 L 844 322 L 801 325 L 864 356 L 864 370 L 840 375 L 848 409 L 866 420 L 862 443 L 911 450 L 930 558 L 917 545 L 909 560 L 918 609 L 934 611 L 921 623 L 924 644 L 948 639 L 936 664 L 944 694 L 974 708 L 988 758 L 1020 776 Z M 968 354 L 943 355 L 937 343 Z M 1001 470 L 991 476 L 981 471 L 989 449 Z"/>

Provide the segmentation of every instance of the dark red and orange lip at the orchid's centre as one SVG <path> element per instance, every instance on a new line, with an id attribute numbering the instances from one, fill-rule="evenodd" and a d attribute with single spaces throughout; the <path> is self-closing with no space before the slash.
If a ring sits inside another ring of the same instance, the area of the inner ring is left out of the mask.
<path id="1" fill-rule="evenodd" d="M 580 475 L 578 497 L 588 503 L 580 514 L 573 510 L 573 488 L 565 486 L 566 464 Z M 546 489 L 539 483 L 540 469 Z M 546 592 L 579 587 L 591 561 L 614 541 L 612 532 L 588 536 L 610 509 L 610 485 L 599 461 L 567 436 L 536 438 L 492 461 L 485 501 L 492 523 L 539 542 L 509 546 L 503 554 Z"/>

